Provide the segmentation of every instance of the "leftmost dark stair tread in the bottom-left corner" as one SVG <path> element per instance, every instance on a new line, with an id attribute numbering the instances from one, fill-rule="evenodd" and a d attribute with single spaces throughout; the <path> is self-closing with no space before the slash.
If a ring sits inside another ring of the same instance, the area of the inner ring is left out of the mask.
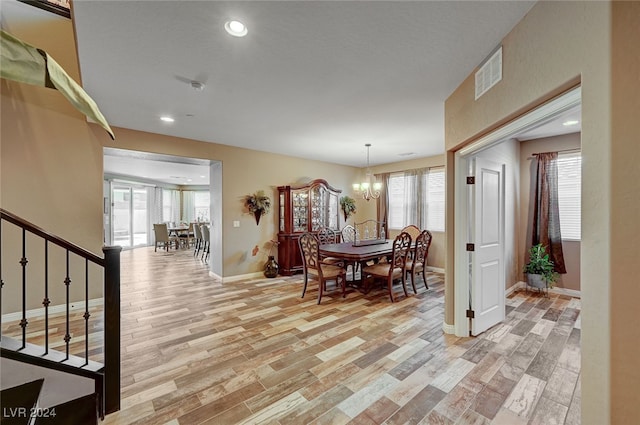
<path id="1" fill-rule="evenodd" d="M 2 420 L 6 425 L 27 425 L 32 409 L 37 406 L 44 379 L 27 382 L 0 391 Z"/>

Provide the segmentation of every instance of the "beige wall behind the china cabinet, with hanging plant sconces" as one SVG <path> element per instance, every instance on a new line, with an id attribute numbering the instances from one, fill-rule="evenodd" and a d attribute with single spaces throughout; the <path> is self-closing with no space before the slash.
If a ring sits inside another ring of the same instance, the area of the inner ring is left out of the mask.
<path id="1" fill-rule="evenodd" d="M 95 131 L 100 130 L 96 128 Z M 212 181 L 211 185 L 222 187 L 222 223 L 214 222 L 213 226 L 221 226 L 222 230 L 225 277 L 262 270 L 268 242 L 276 239 L 277 235 L 278 186 L 323 178 L 341 189 L 341 196 L 355 197 L 351 184 L 360 172 L 357 168 L 122 128 L 114 128 L 114 132 L 116 140 L 105 141 L 105 146 L 222 163 L 222 181 Z M 259 225 L 256 225 L 253 215 L 245 211 L 243 204 L 244 196 L 257 190 L 269 194 L 273 206 Z M 353 219 L 354 216 L 349 221 Z M 233 227 L 233 221 L 239 221 L 240 227 Z M 342 216 L 340 225 L 344 225 Z M 254 257 L 251 251 L 256 245 L 262 252 Z"/>

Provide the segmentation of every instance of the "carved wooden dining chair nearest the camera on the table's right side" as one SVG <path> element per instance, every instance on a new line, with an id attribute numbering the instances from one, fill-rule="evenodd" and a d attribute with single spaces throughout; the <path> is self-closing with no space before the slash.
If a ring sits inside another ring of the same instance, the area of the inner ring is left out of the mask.
<path id="1" fill-rule="evenodd" d="M 407 232 L 401 232 L 393 241 L 391 261 L 385 263 L 380 262 L 362 269 L 362 273 L 364 273 L 365 276 L 365 292 L 368 292 L 369 290 L 370 280 L 374 280 L 376 278 L 385 279 L 389 290 L 389 298 L 391 298 L 391 302 L 394 302 L 393 282 L 400 279 L 402 281 L 404 295 L 405 297 L 408 297 L 409 294 L 407 293 L 407 285 L 405 283 L 405 266 L 410 249 L 411 235 Z"/>

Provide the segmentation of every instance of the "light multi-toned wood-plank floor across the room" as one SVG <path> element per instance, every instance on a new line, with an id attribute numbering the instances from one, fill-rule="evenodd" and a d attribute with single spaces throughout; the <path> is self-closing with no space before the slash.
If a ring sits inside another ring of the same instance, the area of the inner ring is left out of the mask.
<path id="1" fill-rule="evenodd" d="M 104 423 L 579 424 L 580 300 L 516 292 L 505 322 L 458 338 L 443 278 L 316 305 L 300 275 L 223 284 L 190 251 L 124 251 L 122 410 Z"/>

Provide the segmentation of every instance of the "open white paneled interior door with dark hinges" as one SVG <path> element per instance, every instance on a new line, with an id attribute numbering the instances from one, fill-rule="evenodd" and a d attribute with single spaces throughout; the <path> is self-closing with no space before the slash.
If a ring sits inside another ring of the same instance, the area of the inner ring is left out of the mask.
<path id="1" fill-rule="evenodd" d="M 479 335 L 505 318 L 503 166 L 475 158 L 474 175 L 470 304 Z"/>

